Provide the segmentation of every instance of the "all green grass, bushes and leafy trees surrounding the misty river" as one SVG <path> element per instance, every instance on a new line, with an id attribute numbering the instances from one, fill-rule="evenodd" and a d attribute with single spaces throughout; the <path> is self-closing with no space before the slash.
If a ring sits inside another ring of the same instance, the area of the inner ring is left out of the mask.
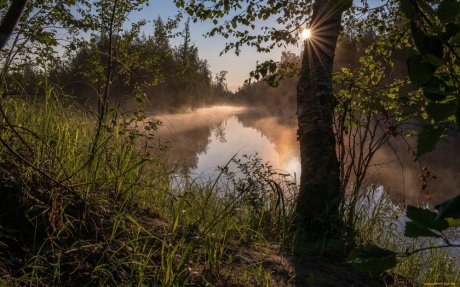
<path id="1" fill-rule="evenodd" d="M 140 34 L 145 21 L 127 25 L 144 0 L 30 1 L 16 28 L 5 16 L 0 36 L 14 33 L 1 51 L 0 285 L 460 284 L 456 259 L 444 248 L 458 247 L 448 232 L 460 225 L 460 197 L 436 211 L 406 208 L 366 184 L 373 156 L 389 138 L 406 142 L 418 132 L 404 127 L 409 120 L 424 124 L 417 151 L 410 150 L 417 162 L 458 128 L 458 1 L 389 1 L 370 10 L 317 1 L 308 4 L 312 14 L 291 2 L 243 1 L 247 9 L 230 20 L 225 16 L 242 9 L 240 1 L 207 1 L 212 8 L 174 2 L 193 20 L 212 19 L 217 26 L 209 35 L 236 36 L 225 48 L 236 53 L 243 45 L 268 52 L 297 42 L 282 29 L 256 37 L 239 25 L 255 30 L 254 21 L 275 15 L 296 31 L 331 9 L 327 49 L 338 43 L 356 58 L 334 67 L 334 50 L 303 63 L 286 52 L 279 63 L 256 67 L 251 76 L 260 82 L 233 94 L 226 72 L 213 79 L 199 58 L 190 20 L 177 31 L 180 17 L 158 18 L 147 36 Z M 2 16 L 9 4 L 0 3 Z M 353 21 L 354 13 L 365 17 Z M 178 47 L 169 43 L 174 34 L 183 40 Z M 306 56 L 312 45 L 305 43 Z M 407 74 L 400 65 L 406 58 Z M 296 77 L 305 107 L 299 122 L 319 131 L 299 133 L 302 150 L 316 152 L 303 154 L 310 176 L 300 186 L 257 155 L 229 159 L 214 180 L 190 178 L 165 160 L 161 123 L 141 112 L 146 102 L 147 109 L 175 111 L 230 100 L 293 111 L 293 93 L 264 102 L 260 95 L 273 91 L 262 80 L 288 90 Z M 315 100 L 316 89 L 324 102 Z M 122 106 L 126 99 L 131 105 Z M 307 109 L 325 112 L 311 121 Z M 327 146 L 331 157 L 323 157 Z M 429 196 L 431 175 L 420 169 Z"/>

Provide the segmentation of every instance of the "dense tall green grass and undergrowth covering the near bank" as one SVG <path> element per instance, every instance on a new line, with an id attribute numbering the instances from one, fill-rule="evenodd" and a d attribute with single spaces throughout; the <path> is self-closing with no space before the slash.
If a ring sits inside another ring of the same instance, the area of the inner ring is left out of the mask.
<path id="1" fill-rule="evenodd" d="M 114 114 L 95 140 L 94 118 L 45 90 L 41 100 L 1 102 L 0 285 L 294 282 L 288 231 L 297 187 L 287 175 L 246 156 L 221 167 L 216 180 L 189 178 L 152 146 L 156 122 Z M 369 198 L 356 199 L 357 244 L 400 251 L 389 220 L 400 211 L 384 196 Z M 452 260 L 430 252 L 385 276 L 402 286 L 458 281 Z"/>

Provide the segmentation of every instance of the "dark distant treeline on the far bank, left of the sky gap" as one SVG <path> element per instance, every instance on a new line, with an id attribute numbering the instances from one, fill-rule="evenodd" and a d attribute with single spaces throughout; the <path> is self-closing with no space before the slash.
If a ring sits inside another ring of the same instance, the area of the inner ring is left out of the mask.
<path id="1" fill-rule="evenodd" d="M 44 83 L 51 84 L 90 109 L 107 86 L 112 106 L 127 110 L 142 106 L 147 111 L 176 111 L 228 101 L 232 93 L 227 72 L 214 76 L 200 58 L 189 21 L 182 31 L 176 30 L 177 20 L 158 17 L 151 35 L 141 34 L 139 28 L 111 37 L 92 35 L 72 43 L 74 48 L 48 63 L 49 69 L 37 59 L 24 61 L 7 74 L 6 82 L 9 90 L 33 96 L 43 93 L 39 87 Z M 174 37 L 181 39 L 180 45 L 171 44 Z M 110 84 L 101 82 L 103 78 Z"/>

